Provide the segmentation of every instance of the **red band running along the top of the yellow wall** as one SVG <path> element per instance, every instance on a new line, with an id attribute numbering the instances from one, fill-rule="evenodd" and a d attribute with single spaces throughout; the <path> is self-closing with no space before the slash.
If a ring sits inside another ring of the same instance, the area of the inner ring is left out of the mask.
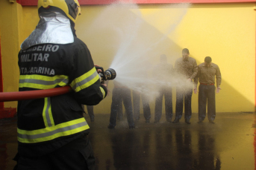
<path id="1" fill-rule="evenodd" d="M 37 0 L 16 0 L 24 6 L 37 5 Z M 80 4 L 110 4 L 119 0 L 78 0 Z M 169 4 L 169 3 L 230 3 L 252 2 L 256 0 L 134 0 L 137 4 Z"/>

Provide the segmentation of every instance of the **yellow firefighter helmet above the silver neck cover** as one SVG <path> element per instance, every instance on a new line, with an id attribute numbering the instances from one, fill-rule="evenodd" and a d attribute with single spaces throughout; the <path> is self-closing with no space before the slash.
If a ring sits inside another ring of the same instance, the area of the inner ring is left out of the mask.
<path id="1" fill-rule="evenodd" d="M 59 12 L 75 23 L 81 8 L 78 0 L 38 0 L 38 14 L 43 12 Z"/>

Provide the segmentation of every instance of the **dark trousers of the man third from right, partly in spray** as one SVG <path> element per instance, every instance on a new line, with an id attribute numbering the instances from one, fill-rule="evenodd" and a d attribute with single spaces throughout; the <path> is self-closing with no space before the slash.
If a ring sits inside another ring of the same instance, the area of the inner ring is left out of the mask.
<path id="1" fill-rule="evenodd" d="M 159 121 L 162 116 L 163 97 L 165 100 L 166 120 L 172 120 L 172 88 L 161 88 L 155 99 L 154 120 Z"/>

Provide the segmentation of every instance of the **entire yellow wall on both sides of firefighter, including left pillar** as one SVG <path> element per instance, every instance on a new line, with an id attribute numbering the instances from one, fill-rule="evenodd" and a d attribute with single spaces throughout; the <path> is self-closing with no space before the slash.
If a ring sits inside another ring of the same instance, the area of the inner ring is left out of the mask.
<path id="1" fill-rule="evenodd" d="M 0 16 L 7 18 L 0 20 L 4 91 L 17 91 L 19 69 L 16 56 L 19 45 L 34 30 L 39 19 L 37 7 L 20 7 L 19 4 L 0 1 L 0 7 L 3 5 L 4 8 L 1 9 L 4 11 L 13 10 L 10 16 L 0 10 Z M 107 25 L 113 22 L 113 18 L 99 20 L 106 7 L 82 6 L 82 15 L 76 24 L 78 38 L 87 44 L 94 62 L 104 68 L 110 67 L 119 47 L 119 41 L 115 39 L 116 30 Z M 166 35 L 167 39 L 157 46 L 157 49 L 160 49 L 157 52 L 166 53 L 169 63 L 174 64 L 175 59 L 181 56 L 182 48 L 188 48 L 190 56 L 194 57 L 198 64 L 204 61 L 205 56 L 212 57 L 213 62 L 219 65 L 222 72 L 222 91 L 216 95 L 217 112 L 254 111 L 256 21 L 254 7 L 255 3 L 192 4 L 184 11 L 182 7 L 175 5 L 143 4 L 139 5 L 138 9 L 131 7 L 125 11 L 125 15 L 143 19 L 137 35 L 139 38 L 145 36 L 145 32 L 154 35 L 153 41 L 157 40 L 157 37 Z M 172 23 L 175 27 L 169 32 L 171 25 L 169 21 L 172 17 L 176 17 L 174 13 L 181 11 L 187 13 L 176 23 Z M 124 24 L 126 17 L 119 13 L 113 24 L 116 27 Z M 152 62 L 158 62 L 157 59 L 158 56 L 152 58 Z M 112 88 L 113 84 L 110 83 L 110 91 Z M 175 89 L 173 94 L 175 112 Z M 110 94 L 96 106 L 95 113 L 110 113 L 111 97 Z M 198 111 L 197 100 L 198 94 L 193 94 L 193 112 Z M 5 102 L 4 106 L 7 105 L 16 107 L 15 102 Z M 154 102 L 151 103 L 151 108 L 154 115 Z"/>

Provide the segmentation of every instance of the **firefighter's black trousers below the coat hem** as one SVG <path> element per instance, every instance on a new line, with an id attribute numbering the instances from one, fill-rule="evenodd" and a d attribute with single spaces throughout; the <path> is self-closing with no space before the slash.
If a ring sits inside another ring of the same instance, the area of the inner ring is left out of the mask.
<path id="1" fill-rule="evenodd" d="M 66 146 L 41 157 L 22 157 L 17 154 L 14 159 L 17 165 L 13 170 L 95 169 L 93 148 L 87 137 L 73 140 Z"/>

